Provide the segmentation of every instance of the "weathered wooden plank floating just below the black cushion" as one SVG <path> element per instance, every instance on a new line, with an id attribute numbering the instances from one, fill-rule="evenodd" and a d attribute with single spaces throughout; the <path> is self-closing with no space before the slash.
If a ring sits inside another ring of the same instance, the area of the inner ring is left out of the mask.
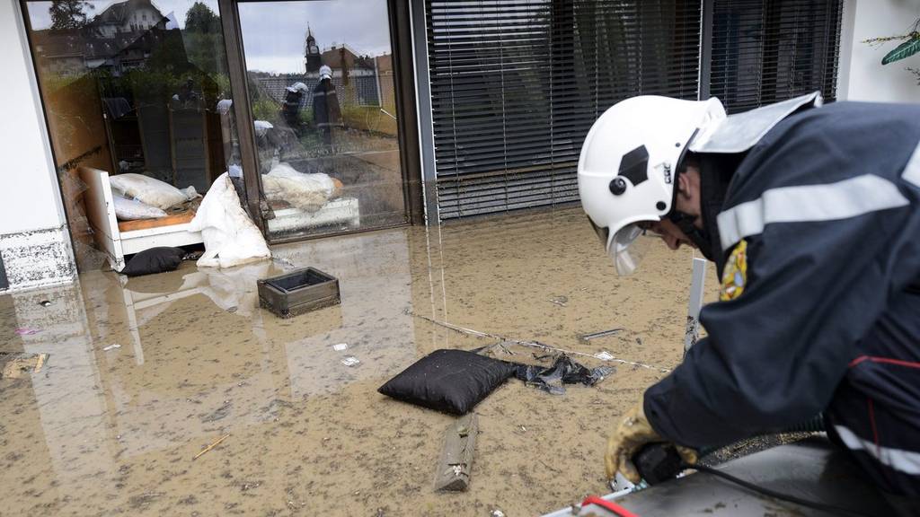
<path id="1" fill-rule="evenodd" d="M 454 420 L 444 430 L 444 448 L 441 453 L 441 462 L 438 464 L 435 490 L 461 492 L 469 488 L 469 478 L 473 468 L 473 450 L 476 447 L 478 432 L 479 419 L 476 413 L 469 413 Z"/>

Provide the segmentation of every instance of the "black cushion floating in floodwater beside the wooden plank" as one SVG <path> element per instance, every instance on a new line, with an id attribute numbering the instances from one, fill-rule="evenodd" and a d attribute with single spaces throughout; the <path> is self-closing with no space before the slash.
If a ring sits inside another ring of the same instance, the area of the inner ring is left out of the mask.
<path id="1" fill-rule="evenodd" d="M 377 389 L 385 396 L 464 415 L 514 374 L 516 366 L 466 350 L 435 350 Z"/>

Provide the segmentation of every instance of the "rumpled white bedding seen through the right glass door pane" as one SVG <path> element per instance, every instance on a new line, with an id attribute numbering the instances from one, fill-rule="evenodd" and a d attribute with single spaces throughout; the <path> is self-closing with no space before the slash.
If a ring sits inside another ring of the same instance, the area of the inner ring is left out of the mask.
<path id="1" fill-rule="evenodd" d="M 262 192 L 269 201 L 287 201 L 305 212 L 316 212 L 336 191 L 328 174 L 304 174 L 286 163 L 271 167 L 262 176 Z"/>

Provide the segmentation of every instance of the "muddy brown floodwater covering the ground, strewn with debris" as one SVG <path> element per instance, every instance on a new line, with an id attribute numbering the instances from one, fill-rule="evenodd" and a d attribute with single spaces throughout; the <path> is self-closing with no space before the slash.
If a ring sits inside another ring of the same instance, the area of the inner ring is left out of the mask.
<path id="1" fill-rule="evenodd" d="M 538 515 L 609 491 L 612 423 L 683 352 L 692 251 L 662 245 L 618 278 L 580 210 L 273 252 L 0 296 L 0 362 L 47 354 L 0 379 L 0 515 Z M 306 266 L 338 277 L 339 306 L 259 309 L 257 279 Z M 563 396 L 508 381 L 476 408 L 469 490 L 435 493 L 454 417 L 376 389 L 432 350 L 496 339 L 415 315 L 651 367 L 578 357 L 616 372 Z"/>

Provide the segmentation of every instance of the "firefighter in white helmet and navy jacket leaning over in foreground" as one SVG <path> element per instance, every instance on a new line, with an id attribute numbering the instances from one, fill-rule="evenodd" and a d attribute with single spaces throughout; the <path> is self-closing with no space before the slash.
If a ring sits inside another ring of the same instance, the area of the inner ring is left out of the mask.
<path id="1" fill-rule="evenodd" d="M 579 190 L 621 274 L 661 237 L 716 263 L 707 337 L 615 422 L 634 482 L 651 442 L 695 450 L 823 414 L 887 494 L 920 497 L 920 106 L 816 92 L 726 116 L 629 98 L 596 121 Z"/>

